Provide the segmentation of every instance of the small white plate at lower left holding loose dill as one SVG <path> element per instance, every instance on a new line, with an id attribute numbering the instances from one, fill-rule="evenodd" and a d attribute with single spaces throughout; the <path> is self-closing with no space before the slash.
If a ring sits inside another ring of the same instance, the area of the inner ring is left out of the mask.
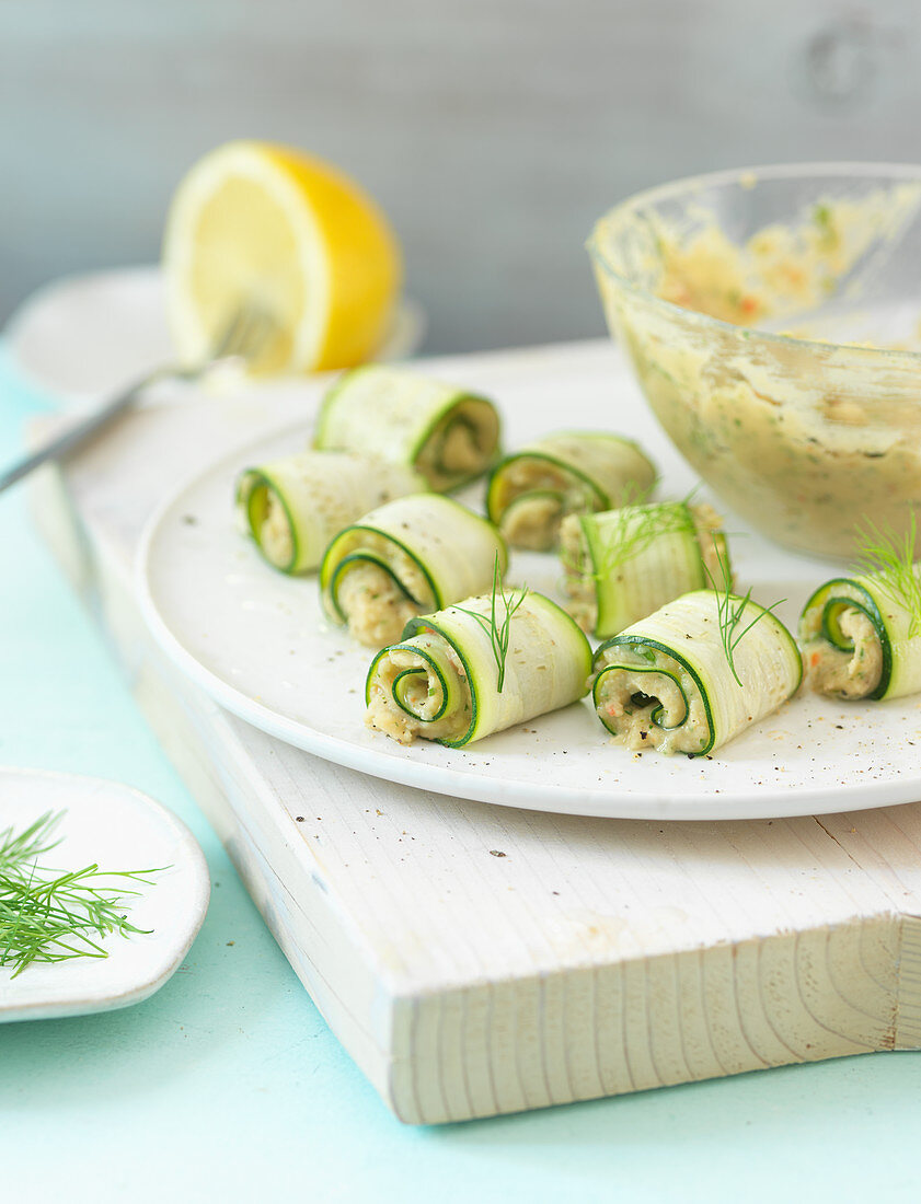
<path id="1" fill-rule="evenodd" d="M 33 963 L 13 978 L 0 968 L 0 1021 L 76 1016 L 140 1003 L 159 990 L 189 950 L 208 907 L 208 868 L 194 837 L 146 795 L 114 781 L 0 769 L 0 832 L 19 832 L 47 811 L 65 811 L 61 844 L 41 860 L 76 869 L 169 866 L 155 886 L 138 885 L 129 917 L 149 934 L 106 938 L 106 958 Z M 130 885 L 130 884 L 129 884 Z"/>

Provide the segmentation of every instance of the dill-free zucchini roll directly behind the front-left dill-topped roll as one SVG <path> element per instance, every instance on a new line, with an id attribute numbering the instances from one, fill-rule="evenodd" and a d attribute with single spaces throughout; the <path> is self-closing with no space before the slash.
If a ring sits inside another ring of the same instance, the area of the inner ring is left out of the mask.
<path id="1" fill-rule="evenodd" d="M 460 502 L 415 494 L 389 502 L 340 532 L 320 567 L 332 622 L 362 644 L 400 639 L 414 615 L 480 594 L 508 567 L 498 531 Z"/>

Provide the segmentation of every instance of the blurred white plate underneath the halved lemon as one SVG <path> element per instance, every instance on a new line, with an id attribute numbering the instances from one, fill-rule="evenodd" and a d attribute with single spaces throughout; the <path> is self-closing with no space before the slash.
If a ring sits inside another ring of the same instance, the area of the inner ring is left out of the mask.
<path id="1" fill-rule="evenodd" d="M 412 355 L 424 334 L 420 307 L 403 299 L 380 358 Z M 55 406 L 96 401 L 172 360 L 160 270 L 55 281 L 13 314 L 5 341 L 18 376 Z"/>

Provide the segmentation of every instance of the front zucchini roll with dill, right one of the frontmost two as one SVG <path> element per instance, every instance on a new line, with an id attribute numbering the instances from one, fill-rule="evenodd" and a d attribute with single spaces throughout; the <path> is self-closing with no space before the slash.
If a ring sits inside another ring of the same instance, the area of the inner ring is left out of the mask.
<path id="1" fill-rule="evenodd" d="M 730 665 L 721 602 L 726 595 L 714 590 L 685 594 L 598 648 L 592 700 L 619 744 L 702 756 L 799 689 L 793 637 L 771 610 L 733 595 L 728 602 L 738 621 L 730 635 L 740 638 Z"/>

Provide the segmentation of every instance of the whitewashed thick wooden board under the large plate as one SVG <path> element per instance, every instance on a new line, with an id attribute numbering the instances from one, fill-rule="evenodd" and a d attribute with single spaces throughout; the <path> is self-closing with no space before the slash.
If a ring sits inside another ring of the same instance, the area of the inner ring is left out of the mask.
<path id="1" fill-rule="evenodd" d="M 621 371 L 596 343 L 435 368 L 500 396 Z M 141 524 L 187 470 L 319 388 L 164 397 L 75 462 L 64 495 L 47 473 L 36 504 L 266 922 L 397 1116 L 921 1046 L 921 804 L 721 824 L 490 807 L 289 748 L 165 663 L 134 602 Z"/>

